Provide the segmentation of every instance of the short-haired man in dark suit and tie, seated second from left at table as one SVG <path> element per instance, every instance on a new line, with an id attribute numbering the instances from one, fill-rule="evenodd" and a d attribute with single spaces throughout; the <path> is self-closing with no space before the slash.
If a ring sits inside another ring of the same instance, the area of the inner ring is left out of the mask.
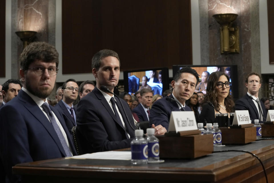
<path id="1" fill-rule="evenodd" d="M 77 128 L 90 144 L 90 152 L 129 148 L 135 130 L 130 108 L 124 100 L 120 103 L 111 93 L 100 90 L 106 86 L 113 92 L 118 84 L 119 56 L 115 51 L 101 50 L 92 57 L 92 68 L 96 88 L 78 103 Z M 162 130 L 158 126 L 156 132 L 164 133 Z"/>

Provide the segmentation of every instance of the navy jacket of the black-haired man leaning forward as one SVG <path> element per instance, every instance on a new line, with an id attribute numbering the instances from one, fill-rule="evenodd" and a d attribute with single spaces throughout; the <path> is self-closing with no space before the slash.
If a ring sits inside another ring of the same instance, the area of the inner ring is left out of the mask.
<path id="1" fill-rule="evenodd" d="M 173 98 L 172 95 L 169 97 Z M 169 120 L 170 120 L 170 115 L 172 111 L 180 111 L 178 108 L 178 104 L 175 101 L 167 101 L 167 97 L 161 98 L 154 102 L 152 105 L 152 108 L 150 110 L 150 122 L 149 126 L 151 127 L 152 124 L 155 126 L 157 125 L 162 125 L 163 127 L 166 128 L 168 131 L 168 125 L 169 125 Z M 192 111 L 190 107 L 186 105 L 185 111 Z"/>

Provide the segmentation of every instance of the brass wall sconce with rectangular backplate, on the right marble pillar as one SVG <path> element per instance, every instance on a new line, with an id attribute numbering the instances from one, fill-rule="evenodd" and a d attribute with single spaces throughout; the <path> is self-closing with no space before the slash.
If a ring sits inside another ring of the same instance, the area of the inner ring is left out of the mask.
<path id="1" fill-rule="evenodd" d="M 215 14 L 213 18 L 221 25 L 221 54 L 239 53 L 239 27 L 231 27 L 232 22 L 237 18 L 237 14 Z"/>

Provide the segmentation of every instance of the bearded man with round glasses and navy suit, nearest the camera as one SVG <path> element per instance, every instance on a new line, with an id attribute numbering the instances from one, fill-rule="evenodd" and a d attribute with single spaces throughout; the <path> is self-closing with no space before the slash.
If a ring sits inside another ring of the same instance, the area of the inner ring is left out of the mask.
<path id="1" fill-rule="evenodd" d="M 61 114 L 47 103 L 55 85 L 58 52 L 44 42 L 28 45 L 20 56 L 23 87 L 0 110 L 0 157 L 7 182 L 20 181 L 18 163 L 76 155 Z"/>

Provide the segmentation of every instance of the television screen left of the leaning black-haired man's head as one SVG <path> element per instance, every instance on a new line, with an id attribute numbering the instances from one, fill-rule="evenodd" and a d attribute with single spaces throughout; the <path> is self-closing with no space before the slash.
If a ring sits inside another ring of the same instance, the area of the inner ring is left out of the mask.
<path id="1" fill-rule="evenodd" d="M 169 89 L 168 68 L 139 69 L 124 72 L 125 92 L 134 94 L 143 88 L 152 89 L 155 94 L 162 95 Z"/>

